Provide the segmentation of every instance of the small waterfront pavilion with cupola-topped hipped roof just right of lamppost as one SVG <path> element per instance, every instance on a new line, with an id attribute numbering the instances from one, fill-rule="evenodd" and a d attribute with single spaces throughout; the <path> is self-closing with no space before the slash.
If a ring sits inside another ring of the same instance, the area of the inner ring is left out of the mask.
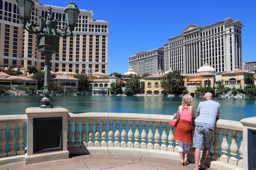
<path id="1" fill-rule="evenodd" d="M 57 76 L 56 79 L 57 82 L 62 82 L 60 91 L 64 91 L 64 93 L 78 91 L 78 79 L 69 74 L 64 73 L 62 76 Z"/>

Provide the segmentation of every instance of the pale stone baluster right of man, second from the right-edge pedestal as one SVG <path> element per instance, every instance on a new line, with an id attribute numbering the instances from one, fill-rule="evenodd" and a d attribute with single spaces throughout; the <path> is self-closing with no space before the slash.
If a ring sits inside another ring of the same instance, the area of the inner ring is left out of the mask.
<path id="1" fill-rule="evenodd" d="M 232 133 L 232 136 L 231 136 L 232 139 L 231 139 L 231 144 L 230 144 L 230 154 L 231 154 L 231 157 L 230 157 L 228 163 L 232 164 L 234 166 L 237 166 L 237 162 L 238 162 L 238 159 L 236 158 L 237 152 L 238 152 L 238 146 L 236 144 L 237 130 L 230 129 L 230 132 Z"/>

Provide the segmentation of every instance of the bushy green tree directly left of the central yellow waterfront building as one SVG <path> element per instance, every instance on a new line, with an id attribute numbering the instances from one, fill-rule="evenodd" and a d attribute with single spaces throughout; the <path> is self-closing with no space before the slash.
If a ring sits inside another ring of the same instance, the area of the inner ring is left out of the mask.
<path id="1" fill-rule="evenodd" d="M 126 95 L 135 95 L 140 94 L 140 79 L 138 77 L 132 77 L 128 79 L 125 85 L 125 94 Z"/>

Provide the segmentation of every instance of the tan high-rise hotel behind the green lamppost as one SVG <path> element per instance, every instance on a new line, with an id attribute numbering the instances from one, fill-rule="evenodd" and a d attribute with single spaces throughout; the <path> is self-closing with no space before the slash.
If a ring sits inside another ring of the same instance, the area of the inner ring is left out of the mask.
<path id="1" fill-rule="evenodd" d="M 31 23 L 41 26 L 40 16 L 47 19 L 47 7 L 35 0 Z M 63 4 L 63 6 L 66 4 Z M 59 20 L 58 30 L 67 28 L 64 8 L 52 7 L 52 20 Z M 53 54 L 51 71 L 86 74 L 87 68 L 108 74 L 109 22 L 93 20 L 93 11 L 81 10 L 73 35 L 60 38 L 58 54 Z M 53 31 L 54 32 L 54 31 Z M 38 52 L 37 36 L 23 29 L 16 0 L 0 0 L 0 65 L 14 68 L 35 65 L 44 70 L 44 54 Z"/>

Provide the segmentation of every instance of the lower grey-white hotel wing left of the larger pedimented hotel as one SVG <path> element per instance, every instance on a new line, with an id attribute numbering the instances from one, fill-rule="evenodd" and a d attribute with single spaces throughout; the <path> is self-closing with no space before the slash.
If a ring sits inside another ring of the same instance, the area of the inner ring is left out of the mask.
<path id="1" fill-rule="evenodd" d="M 139 52 L 128 59 L 129 69 L 133 69 L 140 76 L 145 73 L 157 74 L 159 69 L 164 70 L 163 47 Z"/>

